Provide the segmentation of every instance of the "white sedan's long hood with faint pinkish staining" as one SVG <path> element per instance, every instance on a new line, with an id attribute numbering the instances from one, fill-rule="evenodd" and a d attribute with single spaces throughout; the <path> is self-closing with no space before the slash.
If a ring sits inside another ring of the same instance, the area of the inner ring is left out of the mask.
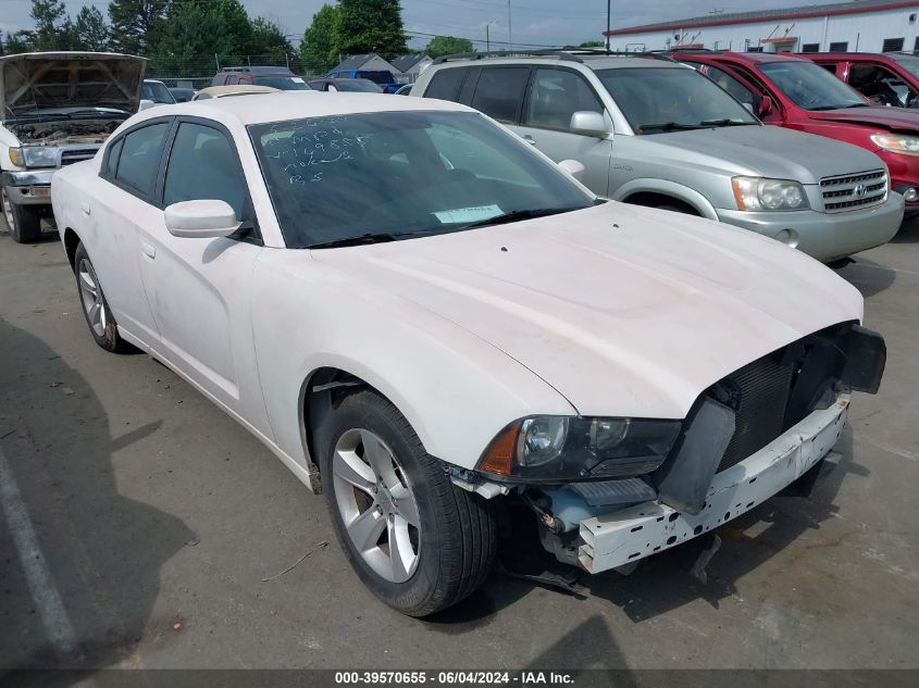
<path id="1" fill-rule="evenodd" d="M 473 333 L 584 415 L 684 417 L 729 373 L 862 313 L 854 287 L 798 251 L 616 202 L 312 255 L 357 293 L 398 293 Z"/>

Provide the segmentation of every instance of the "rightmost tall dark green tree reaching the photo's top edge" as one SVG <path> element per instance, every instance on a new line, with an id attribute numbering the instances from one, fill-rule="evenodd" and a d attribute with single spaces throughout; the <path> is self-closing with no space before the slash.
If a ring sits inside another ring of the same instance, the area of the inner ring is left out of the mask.
<path id="1" fill-rule="evenodd" d="M 378 52 L 392 60 L 408 52 L 399 0 L 339 0 L 335 47 L 341 57 Z"/>

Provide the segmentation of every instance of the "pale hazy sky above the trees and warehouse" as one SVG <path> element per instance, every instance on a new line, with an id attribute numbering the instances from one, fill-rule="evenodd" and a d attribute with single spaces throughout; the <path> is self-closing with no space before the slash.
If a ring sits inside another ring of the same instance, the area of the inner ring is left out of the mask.
<path id="1" fill-rule="evenodd" d="M 95 4 L 107 14 L 108 0 L 64 0 L 71 15 L 85 4 Z M 769 9 L 817 4 L 819 0 L 770 0 Z M 262 15 L 277 22 L 296 45 L 310 24 L 322 0 L 243 0 L 250 16 Z M 516 46 L 560 46 L 603 39 L 606 0 L 511 0 L 511 35 Z M 0 0 L 0 30 L 4 34 L 32 28 L 30 0 Z M 762 0 L 612 0 L 612 26 L 624 27 L 707 14 L 713 10 L 744 12 L 763 9 Z M 505 0 L 402 0 L 406 30 L 421 34 L 411 48 L 421 49 L 430 37 L 424 34 L 469 38 L 476 49 L 485 49 L 485 26 L 493 49 L 508 41 L 508 3 Z M 502 42 L 499 42 L 502 41 Z"/>

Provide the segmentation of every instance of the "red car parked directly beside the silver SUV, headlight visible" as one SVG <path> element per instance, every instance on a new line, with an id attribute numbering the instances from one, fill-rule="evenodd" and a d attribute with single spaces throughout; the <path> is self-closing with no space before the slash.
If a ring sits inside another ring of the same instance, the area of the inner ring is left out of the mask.
<path id="1" fill-rule="evenodd" d="M 678 57 L 707 76 L 730 83 L 732 92 L 766 124 L 819 134 L 877 153 L 890 171 L 894 191 L 906 199 L 906 214 L 919 214 L 918 112 L 872 108 L 825 70 L 785 53 L 681 52 Z"/>

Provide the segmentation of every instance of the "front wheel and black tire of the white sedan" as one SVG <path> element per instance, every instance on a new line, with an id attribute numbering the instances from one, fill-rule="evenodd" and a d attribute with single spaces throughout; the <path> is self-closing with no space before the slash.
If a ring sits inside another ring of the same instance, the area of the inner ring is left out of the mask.
<path id="1" fill-rule="evenodd" d="M 318 436 L 336 535 L 376 597 L 426 616 L 484 583 L 495 561 L 493 505 L 451 483 L 392 403 L 373 390 L 352 393 Z"/>

